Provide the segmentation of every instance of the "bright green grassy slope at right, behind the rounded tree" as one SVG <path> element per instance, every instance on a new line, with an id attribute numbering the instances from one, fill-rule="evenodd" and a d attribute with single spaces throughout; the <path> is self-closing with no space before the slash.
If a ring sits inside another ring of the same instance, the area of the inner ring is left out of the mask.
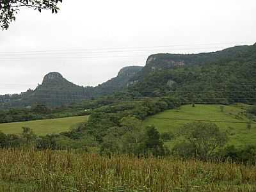
<path id="1" fill-rule="evenodd" d="M 159 113 L 157 115 L 149 117 L 145 120 L 145 125 L 156 125 L 159 132 L 178 132 L 182 125 L 191 121 L 184 120 L 163 120 L 154 119 L 152 117 L 161 118 L 187 118 L 196 120 L 221 120 L 231 122 L 248 122 L 248 118 L 244 115 L 236 115 L 243 111 L 242 105 L 225 106 L 224 111 L 221 112 L 220 105 L 196 105 L 193 108 L 191 105 L 182 106 L 180 109 L 171 109 Z M 252 124 L 252 129 L 249 131 L 246 128 L 246 124 L 234 124 L 234 123 L 216 123 L 221 131 L 228 131 L 230 138 L 229 144 L 236 145 L 237 147 L 246 144 L 255 145 L 256 138 L 256 124 Z M 166 143 L 169 147 L 172 147 L 174 143 L 179 142 L 175 140 L 173 142 Z"/>

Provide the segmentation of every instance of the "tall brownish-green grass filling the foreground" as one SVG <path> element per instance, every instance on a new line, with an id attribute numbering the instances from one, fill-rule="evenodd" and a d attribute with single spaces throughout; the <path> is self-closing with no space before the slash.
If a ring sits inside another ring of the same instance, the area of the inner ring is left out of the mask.
<path id="1" fill-rule="evenodd" d="M 1 149 L 0 186 L 1 191 L 256 191 L 256 167 Z"/>

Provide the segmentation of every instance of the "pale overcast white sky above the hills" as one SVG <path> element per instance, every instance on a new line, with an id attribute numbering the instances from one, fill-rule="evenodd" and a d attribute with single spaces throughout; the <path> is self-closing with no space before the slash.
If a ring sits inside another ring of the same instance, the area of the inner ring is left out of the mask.
<path id="1" fill-rule="evenodd" d="M 0 94 L 33 89 L 49 72 L 97 86 L 150 54 L 256 42 L 255 0 L 63 0 L 60 8 L 21 8 L 0 31 Z"/>

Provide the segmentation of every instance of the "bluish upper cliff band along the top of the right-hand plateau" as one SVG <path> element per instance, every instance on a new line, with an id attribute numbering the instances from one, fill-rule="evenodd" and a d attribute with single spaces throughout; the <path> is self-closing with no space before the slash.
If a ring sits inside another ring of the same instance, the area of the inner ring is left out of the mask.
<path id="1" fill-rule="evenodd" d="M 228 63 L 230 61 L 256 60 L 256 44 L 241 45 L 216 52 L 204 52 L 199 54 L 153 54 L 148 57 L 146 66 L 132 78 L 133 81 L 143 80 L 151 72 L 161 70 L 188 67 L 191 65 L 204 65 L 207 63 Z"/>

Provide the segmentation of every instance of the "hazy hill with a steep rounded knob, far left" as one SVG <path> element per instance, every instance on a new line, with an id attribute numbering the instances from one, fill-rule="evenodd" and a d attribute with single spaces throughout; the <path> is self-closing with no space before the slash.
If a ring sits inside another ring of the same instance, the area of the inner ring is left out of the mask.
<path id="1" fill-rule="evenodd" d="M 46 104 L 47 106 L 60 106 L 82 99 L 92 97 L 92 87 L 77 86 L 67 81 L 58 72 L 51 72 L 44 77 L 42 84 L 36 89 L 19 95 L 4 95 L 1 98 L 2 108 L 26 107 L 33 104 Z"/>

